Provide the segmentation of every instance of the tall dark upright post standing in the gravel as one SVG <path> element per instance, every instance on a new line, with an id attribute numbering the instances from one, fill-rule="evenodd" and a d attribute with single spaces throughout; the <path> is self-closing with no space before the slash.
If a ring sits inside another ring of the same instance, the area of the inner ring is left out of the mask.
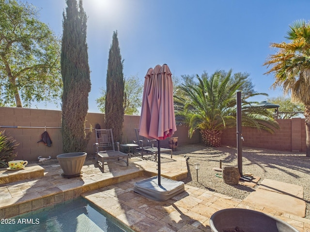
<path id="1" fill-rule="evenodd" d="M 242 174 L 242 127 L 241 127 L 241 92 L 237 92 L 237 152 L 238 152 L 238 169 Z"/>

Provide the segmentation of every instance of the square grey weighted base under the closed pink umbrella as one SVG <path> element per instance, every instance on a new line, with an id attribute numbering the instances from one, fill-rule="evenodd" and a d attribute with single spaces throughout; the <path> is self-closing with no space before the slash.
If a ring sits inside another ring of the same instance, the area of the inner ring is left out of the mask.
<path id="1" fill-rule="evenodd" d="M 154 176 L 134 185 L 134 191 L 155 201 L 167 201 L 185 191 L 184 182 L 160 177 L 161 185 L 158 185 L 158 177 Z"/>

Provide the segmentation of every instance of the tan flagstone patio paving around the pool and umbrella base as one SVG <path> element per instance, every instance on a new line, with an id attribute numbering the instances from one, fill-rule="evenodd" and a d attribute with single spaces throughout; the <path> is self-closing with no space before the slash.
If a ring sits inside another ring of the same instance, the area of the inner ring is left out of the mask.
<path id="1" fill-rule="evenodd" d="M 162 158 L 162 176 L 175 180 L 186 177 L 187 166 L 183 156 L 173 155 L 171 159 L 170 155 L 162 154 Z M 262 211 L 288 222 L 301 232 L 310 232 L 310 219 L 295 215 L 294 212 L 284 212 L 272 204 L 262 205 L 251 199 L 234 199 L 204 188 L 185 185 L 183 193 L 165 202 L 141 196 L 133 191 L 133 185 L 157 174 L 156 162 L 152 160 L 131 158 L 128 167 L 124 162 L 110 160 L 105 167 L 103 173 L 95 160 L 86 160 L 82 175 L 71 179 L 61 176 L 62 170 L 57 163 L 32 164 L 19 171 L 2 169 L 0 217 L 13 217 L 82 196 L 116 218 L 128 231 L 211 231 L 209 218 L 213 213 L 224 208 L 238 207 Z M 31 169 L 42 168 L 44 176 L 40 172 L 38 176 L 34 176 L 31 172 Z M 20 179 L 21 174 L 26 177 L 24 180 Z M 14 175 L 19 177 L 14 179 Z M 270 182 L 266 182 L 266 186 L 268 183 Z M 280 183 L 277 184 L 279 187 Z M 281 188 L 278 190 L 281 191 Z M 271 197 L 272 194 L 268 196 Z M 285 197 L 301 198 L 299 193 L 295 194 L 294 191 Z"/>

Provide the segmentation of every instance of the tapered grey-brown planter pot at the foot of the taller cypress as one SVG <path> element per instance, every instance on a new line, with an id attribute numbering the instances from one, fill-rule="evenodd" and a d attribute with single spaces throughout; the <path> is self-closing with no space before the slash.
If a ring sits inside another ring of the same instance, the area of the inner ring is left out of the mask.
<path id="1" fill-rule="evenodd" d="M 72 152 L 58 155 L 57 160 L 62 167 L 62 176 L 67 178 L 80 176 L 86 156 L 87 153 L 85 152 Z"/>

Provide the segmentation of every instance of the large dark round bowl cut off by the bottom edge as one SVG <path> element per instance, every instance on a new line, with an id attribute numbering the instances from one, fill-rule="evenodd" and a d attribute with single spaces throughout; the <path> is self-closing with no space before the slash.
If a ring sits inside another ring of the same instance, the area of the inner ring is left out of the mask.
<path id="1" fill-rule="evenodd" d="M 288 223 L 262 212 L 229 208 L 219 210 L 210 217 L 212 232 L 298 232 Z M 237 229 L 236 229 L 237 228 Z"/>

